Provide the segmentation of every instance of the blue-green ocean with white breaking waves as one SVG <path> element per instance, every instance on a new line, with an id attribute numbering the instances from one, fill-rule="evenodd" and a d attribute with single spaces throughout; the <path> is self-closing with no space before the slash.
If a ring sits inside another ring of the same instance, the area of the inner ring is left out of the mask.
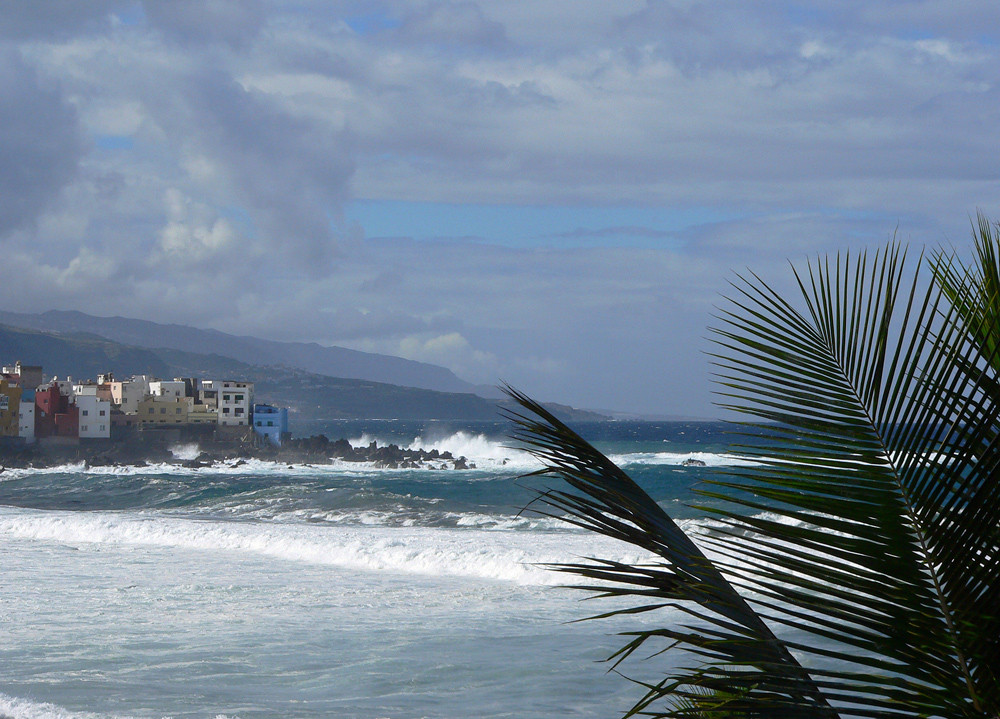
<path id="1" fill-rule="evenodd" d="M 692 489 L 742 461 L 720 423 L 576 429 L 692 529 L 708 521 L 686 506 Z M 507 446 L 508 425 L 293 430 L 476 468 L 8 469 L 0 717 L 608 717 L 641 696 L 603 660 L 619 632 L 670 617 L 579 622 L 617 600 L 584 601 L 544 565 L 642 557 L 522 511 L 544 482 L 518 479 L 538 465 Z M 669 661 L 620 670 L 646 680 Z"/>

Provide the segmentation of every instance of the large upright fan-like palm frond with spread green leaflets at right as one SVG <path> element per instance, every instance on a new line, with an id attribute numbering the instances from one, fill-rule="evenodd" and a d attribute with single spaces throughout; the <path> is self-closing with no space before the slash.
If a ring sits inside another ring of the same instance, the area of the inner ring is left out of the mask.
<path id="1" fill-rule="evenodd" d="M 744 511 L 722 513 L 732 531 L 713 543 L 762 616 L 813 642 L 790 646 L 833 660 L 813 675 L 840 683 L 856 705 L 845 715 L 876 716 L 892 697 L 932 716 L 995 716 L 996 374 L 957 304 L 916 274 L 901 292 L 903 259 L 890 247 L 810 267 L 805 314 L 768 315 L 773 291 L 738 287 L 717 331 L 724 393 L 787 430 L 741 448 L 760 467 L 714 483 Z"/>

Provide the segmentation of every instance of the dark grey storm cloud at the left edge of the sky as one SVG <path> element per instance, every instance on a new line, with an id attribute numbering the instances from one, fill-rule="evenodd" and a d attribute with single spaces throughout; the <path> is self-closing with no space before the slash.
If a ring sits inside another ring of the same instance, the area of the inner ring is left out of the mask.
<path id="1" fill-rule="evenodd" d="M 76 111 L 55 83 L 0 47 L 0 239 L 52 202 L 82 151 Z"/>

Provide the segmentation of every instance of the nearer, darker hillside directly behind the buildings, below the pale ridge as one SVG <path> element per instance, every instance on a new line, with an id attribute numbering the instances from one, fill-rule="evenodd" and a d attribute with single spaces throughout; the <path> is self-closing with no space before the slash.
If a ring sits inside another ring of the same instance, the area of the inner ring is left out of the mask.
<path id="1" fill-rule="evenodd" d="M 86 333 L 55 335 L 0 325 L 0 360 L 42 365 L 49 376 L 95 378 L 113 371 L 118 377 L 216 377 L 255 384 L 257 399 L 291 411 L 301 419 L 453 419 L 495 420 L 505 401 L 469 392 L 439 392 L 385 382 L 330 377 L 291 367 L 263 367 L 219 354 L 123 345 Z M 562 405 L 549 405 L 565 419 L 599 420 L 603 416 Z"/>

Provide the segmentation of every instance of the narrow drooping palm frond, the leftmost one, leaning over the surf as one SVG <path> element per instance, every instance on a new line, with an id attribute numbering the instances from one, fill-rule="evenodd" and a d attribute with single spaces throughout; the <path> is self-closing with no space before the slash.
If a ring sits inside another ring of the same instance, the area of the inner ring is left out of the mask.
<path id="1" fill-rule="evenodd" d="M 553 489 L 541 494 L 536 501 L 546 508 L 542 513 L 563 516 L 572 524 L 629 542 L 662 559 L 649 566 L 594 559 L 589 564 L 555 568 L 591 580 L 618 583 L 617 588 L 595 584 L 581 589 L 605 596 L 625 593 L 647 601 L 655 599 L 640 610 L 675 606 L 711 626 L 701 633 L 690 625 L 636 632 L 612 657 L 616 664 L 651 639 L 679 643 L 700 657 L 728 665 L 725 671 L 738 674 L 741 682 L 754 688 L 758 707 L 768 706 L 789 717 L 836 716 L 791 652 L 646 492 L 542 405 L 509 386 L 504 389 L 527 412 L 506 414 L 515 422 L 513 438 L 545 464 L 546 469 L 535 474 L 559 476 L 575 490 Z M 626 611 L 636 610 L 602 616 Z M 686 696 L 699 686 L 712 689 L 717 681 L 711 671 L 668 677 L 648 687 L 647 696 L 633 711 L 651 716 L 685 716 L 678 713 L 682 711 L 678 708 L 650 714 L 649 704 L 664 695 Z"/>

